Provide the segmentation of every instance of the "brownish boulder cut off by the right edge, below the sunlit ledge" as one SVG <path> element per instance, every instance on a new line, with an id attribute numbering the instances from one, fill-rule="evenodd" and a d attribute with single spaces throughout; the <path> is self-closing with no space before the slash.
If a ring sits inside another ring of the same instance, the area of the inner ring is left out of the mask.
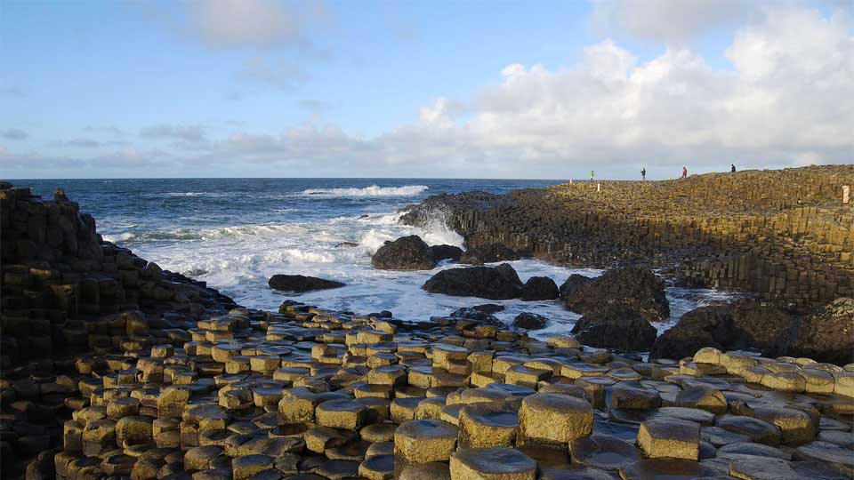
<path id="1" fill-rule="evenodd" d="M 797 325 L 788 356 L 807 356 L 818 362 L 854 362 L 854 300 L 836 299 L 818 308 Z"/>

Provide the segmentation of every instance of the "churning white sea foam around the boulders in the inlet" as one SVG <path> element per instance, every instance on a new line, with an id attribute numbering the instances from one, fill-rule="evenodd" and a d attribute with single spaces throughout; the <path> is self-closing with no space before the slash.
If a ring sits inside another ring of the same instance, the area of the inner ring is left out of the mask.
<path id="1" fill-rule="evenodd" d="M 496 316 L 512 324 L 523 311 L 549 318 L 546 328 L 530 334 L 538 339 L 567 334 L 579 315 L 568 311 L 559 300 L 525 302 L 521 300 L 490 301 L 451 297 L 424 292 L 422 285 L 437 271 L 458 265 L 443 262 L 430 271 L 398 272 L 371 267 L 370 255 L 387 240 L 399 236 L 419 235 L 428 244 L 463 245 L 463 238 L 447 228 L 441 212 L 431 214 L 424 228 L 401 225 L 399 213 L 371 212 L 367 216 L 338 217 L 315 222 L 288 224 L 256 224 L 222 228 L 182 228 L 166 232 L 181 235 L 180 241 L 150 242 L 164 232 L 149 234 L 133 244 L 134 252 L 142 258 L 157 261 L 163 267 L 194 276 L 219 288 L 242 305 L 251 308 L 278 308 L 286 298 L 270 290 L 267 280 L 275 274 L 300 274 L 342 281 L 347 286 L 328 291 L 307 292 L 294 296 L 323 308 L 350 309 L 369 313 L 391 310 L 399 318 L 427 321 L 430 316 L 447 315 L 456 308 L 482 303 L 498 303 L 505 310 Z M 105 236 L 118 242 L 133 238 L 129 233 Z M 215 239 L 215 241 L 211 241 Z M 335 247 L 349 241 L 356 247 Z M 561 284 L 569 275 L 580 273 L 597 276 L 599 270 L 570 269 L 539 260 L 512 262 L 522 281 L 531 276 L 550 276 Z M 673 315 L 656 324 L 659 331 L 672 325 L 682 313 L 698 305 L 729 297 L 721 292 L 669 288 Z"/>

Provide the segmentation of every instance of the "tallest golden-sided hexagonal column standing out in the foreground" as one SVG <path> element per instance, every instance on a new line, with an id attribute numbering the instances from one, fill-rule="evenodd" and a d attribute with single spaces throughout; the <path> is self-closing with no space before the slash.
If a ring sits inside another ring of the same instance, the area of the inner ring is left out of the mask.
<path id="1" fill-rule="evenodd" d="M 525 397 L 519 409 L 516 443 L 568 447 L 593 428 L 593 409 L 586 401 L 560 394 Z"/>

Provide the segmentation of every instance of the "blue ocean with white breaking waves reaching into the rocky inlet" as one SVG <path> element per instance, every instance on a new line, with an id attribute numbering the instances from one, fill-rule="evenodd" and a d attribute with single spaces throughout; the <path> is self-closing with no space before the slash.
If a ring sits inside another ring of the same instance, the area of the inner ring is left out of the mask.
<path id="1" fill-rule="evenodd" d="M 286 299 L 322 308 L 367 314 L 390 310 L 398 318 L 426 321 L 456 308 L 500 303 L 497 314 L 511 323 L 520 312 L 549 318 L 538 338 L 567 333 L 579 317 L 559 301 L 484 300 L 431 294 L 423 283 L 432 271 L 397 272 L 371 267 L 370 255 L 386 240 L 417 234 L 428 244 L 463 246 L 463 238 L 439 219 L 428 228 L 398 223 L 401 207 L 430 195 L 485 190 L 501 194 L 565 180 L 428 179 L 150 179 L 14 180 L 52 197 L 64 188 L 93 214 L 105 240 L 133 250 L 161 268 L 204 280 L 239 304 L 276 310 Z M 355 247 L 336 246 L 343 242 Z M 573 273 L 596 276 L 599 270 L 572 269 L 540 260 L 511 262 L 522 281 L 551 276 L 559 285 Z M 300 295 L 270 290 L 275 274 L 301 274 L 339 280 L 347 286 Z M 727 292 L 669 287 L 672 316 L 657 324 L 660 332 L 686 311 Z"/>

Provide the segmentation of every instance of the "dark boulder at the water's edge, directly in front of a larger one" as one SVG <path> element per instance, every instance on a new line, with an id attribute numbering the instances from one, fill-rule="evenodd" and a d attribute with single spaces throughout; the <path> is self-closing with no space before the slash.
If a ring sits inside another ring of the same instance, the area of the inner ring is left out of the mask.
<path id="1" fill-rule="evenodd" d="M 649 351 L 656 341 L 656 327 L 632 308 L 608 305 L 578 319 L 572 332 L 576 340 L 597 348 Z"/>

